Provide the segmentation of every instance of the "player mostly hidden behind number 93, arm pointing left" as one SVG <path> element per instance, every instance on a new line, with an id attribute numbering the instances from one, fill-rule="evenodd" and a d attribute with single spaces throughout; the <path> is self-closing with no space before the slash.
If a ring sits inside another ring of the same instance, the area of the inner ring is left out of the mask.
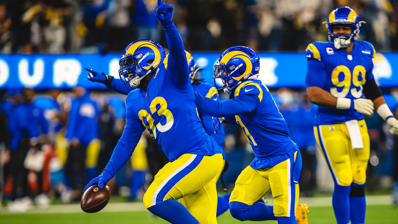
<path id="1" fill-rule="evenodd" d="M 218 94 L 217 88 L 215 88 L 213 85 L 211 85 L 209 83 L 204 82 L 197 75 L 198 71 L 200 71 L 200 68 L 196 67 L 195 60 L 193 59 L 191 53 L 189 53 L 188 51 L 185 51 L 185 57 L 187 58 L 187 63 L 188 63 L 188 67 L 189 67 L 189 77 L 190 77 L 190 81 L 192 83 L 193 90 L 203 96 L 212 98 L 213 100 L 218 100 L 219 94 Z M 167 61 L 168 61 L 168 55 L 166 55 L 166 58 L 163 60 L 165 69 L 167 69 Z M 119 82 L 119 81 L 113 79 L 113 77 L 107 76 L 104 73 L 98 73 L 96 71 L 93 71 L 92 69 L 86 69 L 86 70 L 89 71 L 89 74 L 87 76 L 88 80 L 93 81 L 93 82 L 103 83 L 107 86 L 107 88 L 113 89 L 119 93 L 127 95 L 127 94 L 129 94 L 129 92 L 131 90 L 135 89 L 131 86 L 127 87 L 126 85 L 123 85 L 122 82 Z M 225 138 L 224 126 L 222 124 L 220 124 L 220 129 L 217 130 L 216 133 L 214 133 L 215 130 L 213 130 L 213 128 L 214 128 L 213 116 L 205 114 L 201 111 L 198 111 L 198 115 L 203 124 L 203 128 L 205 129 L 205 132 L 209 136 L 211 136 L 216 141 L 216 143 L 219 145 L 219 147 L 222 149 L 222 158 L 223 158 L 223 163 L 224 163 L 223 167 L 225 167 L 226 160 L 225 160 L 225 152 L 224 152 L 224 138 Z M 217 120 L 215 122 L 217 122 Z M 226 166 L 228 167 L 228 165 L 226 165 Z M 222 175 L 222 173 L 221 173 L 222 171 L 225 171 L 225 169 L 220 171 L 219 176 Z M 218 197 L 219 203 L 217 203 L 217 216 L 219 216 L 220 214 L 222 214 L 226 210 L 228 210 L 229 196 L 230 196 L 230 193 Z M 183 198 L 180 199 L 179 201 L 184 203 Z M 225 202 L 227 202 L 227 203 L 225 203 Z"/>

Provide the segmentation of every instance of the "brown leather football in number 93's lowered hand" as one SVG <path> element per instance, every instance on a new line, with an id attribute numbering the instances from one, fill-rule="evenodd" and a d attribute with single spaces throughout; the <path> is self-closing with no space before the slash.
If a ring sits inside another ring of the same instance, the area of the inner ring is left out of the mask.
<path id="1" fill-rule="evenodd" d="M 111 196 L 111 189 L 107 185 L 102 188 L 98 184 L 89 187 L 80 200 L 80 207 L 84 212 L 94 213 L 105 208 L 108 204 L 109 197 Z"/>

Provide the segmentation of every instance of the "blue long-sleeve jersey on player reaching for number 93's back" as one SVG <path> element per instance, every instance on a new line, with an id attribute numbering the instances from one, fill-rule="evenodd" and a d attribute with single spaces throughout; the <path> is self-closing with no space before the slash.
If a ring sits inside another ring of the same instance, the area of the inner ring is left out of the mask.
<path id="1" fill-rule="evenodd" d="M 289 138 L 285 119 L 261 81 L 241 83 L 230 98 L 219 102 L 195 93 L 200 110 L 215 117 L 226 117 L 229 122 L 236 121 L 242 126 L 256 156 L 251 167 L 272 167 L 289 159 L 298 150 Z M 231 121 L 231 118 L 234 120 Z"/>

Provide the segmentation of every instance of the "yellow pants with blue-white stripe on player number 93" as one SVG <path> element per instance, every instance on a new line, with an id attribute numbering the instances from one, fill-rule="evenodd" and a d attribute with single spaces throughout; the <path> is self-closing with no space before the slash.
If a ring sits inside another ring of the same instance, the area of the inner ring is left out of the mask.
<path id="1" fill-rule="evenodd" d="M 217 224 L 216 182 L 222 170 L 222 154 L 183 154 L 155 175 L 144 194 L 145 208 L 168 199 L 183 198 L 187 210 L 201 224 Z"/>

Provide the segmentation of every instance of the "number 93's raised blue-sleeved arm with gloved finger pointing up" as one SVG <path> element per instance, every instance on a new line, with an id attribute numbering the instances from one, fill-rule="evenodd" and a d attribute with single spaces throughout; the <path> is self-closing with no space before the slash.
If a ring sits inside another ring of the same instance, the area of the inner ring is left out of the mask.
<path id="1" fill-rule="evenodd" d="M 172 21 L 173 6 L 158 0 L 156 18 L 158 18 L 166 33 L 167 46 L 170 50 L 167 64 L 167 75 L 172 84 L 180 89 L 191 88 L 189 81 L 189 68 L 185 57 L 184 44 Z"/>

